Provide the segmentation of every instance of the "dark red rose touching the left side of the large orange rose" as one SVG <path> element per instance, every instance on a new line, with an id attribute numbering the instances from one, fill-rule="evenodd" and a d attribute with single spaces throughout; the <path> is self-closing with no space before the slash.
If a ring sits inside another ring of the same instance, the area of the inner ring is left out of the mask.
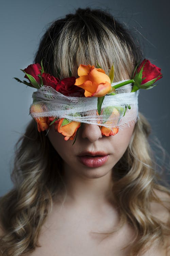
<path id="1" fill-rule="evenodd" d="M 76 78 L 74 76 L 62 79 L 56 85 L 56 91 L 64 94 L 65 96 L 71 97 L 83 97 L 84 90 L 76 85 L 74 85 Z"/>

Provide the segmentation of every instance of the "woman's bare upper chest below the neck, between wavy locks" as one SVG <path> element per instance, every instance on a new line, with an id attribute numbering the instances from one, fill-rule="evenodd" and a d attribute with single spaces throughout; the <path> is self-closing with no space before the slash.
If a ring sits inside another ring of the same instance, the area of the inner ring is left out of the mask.
<path id="1" fill-rule="evenodd" d="M 39 243 L 31 256 L 127 256 L 129 248 L 121 250 L 132 241 L 133 230 L 128 224 L 114 234 L 109 232 L 115 225 L 114 219 L 98 216 L 60 215 L 58 220 L 48 220 L 44 225 Z"/>

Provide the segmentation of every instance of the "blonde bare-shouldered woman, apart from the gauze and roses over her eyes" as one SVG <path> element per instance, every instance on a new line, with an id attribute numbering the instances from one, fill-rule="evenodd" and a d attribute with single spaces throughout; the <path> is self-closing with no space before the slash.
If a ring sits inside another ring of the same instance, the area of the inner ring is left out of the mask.
<path id="1" fill-rule="evenodd" d="M 111 15 L 87 8 L 50 26 L 41 60 L 57 83 L 96 63 L 105 71 L 114 63 L 118 82 L 131 79 L 141 52 Z M 157 184 L 146 118 L 109 134 L 80 122 L 69 136 L 54 119 L 35 118 L 18 142 L 15 186 L 0 201 L 2 255 L 170 255 L 170 191 Z"/>

